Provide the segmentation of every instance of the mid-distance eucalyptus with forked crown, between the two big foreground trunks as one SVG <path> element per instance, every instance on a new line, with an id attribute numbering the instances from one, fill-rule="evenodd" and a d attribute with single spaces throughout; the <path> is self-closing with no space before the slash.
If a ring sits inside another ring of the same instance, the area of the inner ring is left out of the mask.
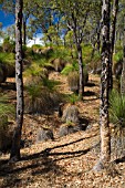
<path id="1" fill-rule="evenodd" d="M 84 82 L 83 82 L 83 59 L 82 59 L 82 41 L 83 41 L 83 29 L 86 23 L 86 19 L 90 12 L 90 1 L 86 0 L 55 0 L 55 8 L 60 10 L 65 17 L 65 22 L 67 28 L 73 31 L 75 45 L 79 55 L 79 70 L 80 70 L 80 90 L 79 95 L 82 100 L 84 93 Z M 84 9 L 85 8 L 85 9 Z"/>

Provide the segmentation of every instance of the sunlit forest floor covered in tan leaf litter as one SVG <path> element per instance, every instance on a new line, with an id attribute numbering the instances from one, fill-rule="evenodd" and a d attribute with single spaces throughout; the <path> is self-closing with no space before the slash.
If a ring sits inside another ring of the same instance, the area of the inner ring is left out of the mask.
<path id="1" fill-rule="evenodd" d="M 70 93 L 66 79 L 52 73 L 60 81 L 59 90 Z M 10 92 L 15 100 L 14 91 Z M 22 138 L 28 146 L 21 149 L 21 160 L 7 163 L 9 155 L 0 156 L 0 188 L 125 188 L 125 157 L 112 156 L 111 165 L 97 173 L 93 170 L 100 159 L 100 77 L 90 75 L 83 102 L 76 102 L 86 130 L 59 137 L 61 119 L 53 115 L 24 114 Z M 42 125 L 54 130 L 54 140 L 37 143 Z"/>

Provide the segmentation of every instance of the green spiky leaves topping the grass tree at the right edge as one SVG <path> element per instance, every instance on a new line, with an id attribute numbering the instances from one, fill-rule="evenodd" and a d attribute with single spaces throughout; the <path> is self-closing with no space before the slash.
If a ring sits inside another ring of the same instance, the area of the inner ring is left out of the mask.
<path id="1" fill-rule="evenodd" d="M 113 90 L 110 95 L 110 117 L 118 127 L 125 127 L 125 96 Z"/>

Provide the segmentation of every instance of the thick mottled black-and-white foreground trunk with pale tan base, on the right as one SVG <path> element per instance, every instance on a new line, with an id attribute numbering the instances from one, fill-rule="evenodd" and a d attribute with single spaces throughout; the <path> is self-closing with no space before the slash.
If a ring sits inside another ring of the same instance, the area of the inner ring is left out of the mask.
<path id="1" fill-rule="evenodd" d="M 111 160 L 111 137 L 108 124 L 108 67 L 110 67 L 110 0 L 102 7 L 102 74 L 101 74 L 101 158 L 95 170 L 101 170 Z M 102 164 L 102 165 L 101 165 Z"/>

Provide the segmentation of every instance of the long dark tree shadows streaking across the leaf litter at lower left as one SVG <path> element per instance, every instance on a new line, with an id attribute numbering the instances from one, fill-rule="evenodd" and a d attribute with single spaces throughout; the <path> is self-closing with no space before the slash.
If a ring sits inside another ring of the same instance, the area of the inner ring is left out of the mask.
<path id="1" fill-rule="evenodd" d="M 87 138 L 91 137 L 92 136 L 88 136 Z M 0 178 L 3 178 L 3 184 L 0 185 L 0 187 L 21 187 L 23 184 L 25 185 L 25 181 L 30 182 L 32 180 L 30 177 L 28 179 L 28 174 L 29 176 L 45 175 L 45 178 L 50 178 L 50 176 L 53 175 L 53 178 L 56 178 L 66 170 L 65 167 L 60 167 L 56 161 L 80 157 L 88 153 L 91 148 L 74 152 L 54 152 L 54 149 L 63 148 L 83 139 L 86 139 L 86 137 L 50 147 L 33 155 L 23 156 L 21 161 L 15 164 L 9 164 L 8 160 L 0 160 Z"/>

